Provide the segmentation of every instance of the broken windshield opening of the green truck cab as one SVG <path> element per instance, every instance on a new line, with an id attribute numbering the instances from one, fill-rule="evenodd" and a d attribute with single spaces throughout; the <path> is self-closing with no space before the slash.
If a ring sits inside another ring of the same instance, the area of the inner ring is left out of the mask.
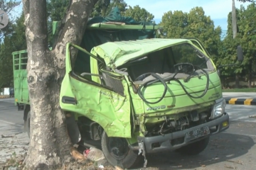
<path id="1" fill-rule="evenodd" d="M 207 69 L 207 72 L 213 70 L 213 64 L 196 47 L 188 43 L 182 43 L 162 50 L 151 52 L 137 60 L 129 61 L 122 65 L 126 68 L 129 76 L 135 80 L 139 75 L 154 72 L 156 74 L 174 74 L 175 65 L 181 63 L 200 66 L 201 69 Z"/>

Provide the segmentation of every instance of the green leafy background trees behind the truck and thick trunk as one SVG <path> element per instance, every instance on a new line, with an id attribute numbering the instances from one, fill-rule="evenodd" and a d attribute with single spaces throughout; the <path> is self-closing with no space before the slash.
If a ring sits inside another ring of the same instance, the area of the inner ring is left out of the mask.
<path id="1" fill-rule="evenodd" d="M 0 8 L 12 13 L 16 6 L 21 5 L 21 1 L 0 0 Z M 103 1 L 104 2 L 104 1 Z M 65 16 L 68 8 L 68 0 L 47 0 L 47 20 L 48 20 L 48 44 L 53 45 L 52 22 L 60 21 Z M 122 16 L 130 16 L 136 21 L 153 21 L 154 15 L 150 11 L 140 6 L 129 6 L 128 1 L 112 0 L 110 5 L 106 6 L 102 1 L 97 1 L 95 7 L 90 14 L 90 18 L 94 16 L 106 16 L 113 6 L 117 6 Z M 8 29 L 4 28 L 0 31 L 0 89 L 13 86 L 13 62 L 11 52 L 26 49 L 26 36 L 23 12 L 19 16 L 12 15 Z M 256 73 L 256 35 L 255 35 L 255 18 L 256 5 L 252 2 L 250 6 L 237 6 L 236 16 L 238 23 L 238 33 L 233 39 L 231 11 L 228 14 L 228 31 L 223 38 L 223 30 L 219 26 L 215 26 L 210 16 L 206 16 L 202 7 L 197 6 L 191 8 L 188 13 L 183 11 L 168 11 L 163 13 L 163 17 L 159 25 L 164 27 L 165 35 L 163 38 L 188 38 L 195 37 L 203 42 L 206 49 L 210 53 L 216 67 L 223 64 L 236 63 L 236 47 L 242 45 L 245 60 L 240 67 L 223 67 L 221 71 L 221 79 L 225 77 L 245 77 L 247 79 L 248 88 L 251 88 L 252 78 Z M 235 81 L 235 79 L 234 79 Z M 239 87 L 239 81 L 235 82 L 236 88 Z M 223 84 L 223 89 L 226 88 Z"/>

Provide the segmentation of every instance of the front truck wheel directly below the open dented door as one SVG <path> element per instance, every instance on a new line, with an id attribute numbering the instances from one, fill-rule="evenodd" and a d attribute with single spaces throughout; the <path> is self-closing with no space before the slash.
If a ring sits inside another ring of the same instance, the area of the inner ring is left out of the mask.
<path id="1" fill-rule="evenodd" d="M 122 137 L 108 137 L 104 131 L 101 140 L 102 152 L 112 166 L 129 169 L 139 162 L 138 152 L 129 148 Z"/>

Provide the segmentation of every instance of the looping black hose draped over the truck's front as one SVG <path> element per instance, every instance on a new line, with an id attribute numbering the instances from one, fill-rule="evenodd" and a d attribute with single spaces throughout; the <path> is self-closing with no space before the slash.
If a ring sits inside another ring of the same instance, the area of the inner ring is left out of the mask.
<path id="1" fill-rule="evenodd" d="M 198 67 L 198 66 L 196 66 Z M 161 100 L 163 100 L 164 96 L 166 95 L 166 92 L 167 92 L 167 84 L 166 84 L 166 81 L 171 81 L 171 80 L 174 80 L 174 81 L 177 81 L 178 84 L 181 85 L 183 91 L 185 91 L 185 93 L 190 96 L 191 98 L 201 98 L 203 97 L 204 95 L 206 95 L 207 91 L 208 91 L 208 88 L 209 88 L 209 82 L 210 82 L 210 78 L 209 78 L 209 74 L 208 72 L 205 70 L 205 69 L 202 69 L 201 67 L 198 67 L 198 69 L 201 69 L 204 73 L 206 73 L 206 79 L 207 79 L 207 82 L 206 82 L 206 89 L 203 91 L 203 94 L 201 94 L 201 96 L 192 96 L 191 94 L 188 93 L 188 91 L 186 91 L 186 88 L 183 86 L 183 84 L 181 83 L 181 81 L 179 81 L 178 79 L 175 78 L 176 74 L 174 74 L 174 77 L 171 77 L 171 78 L 168 78 L 168 79 L 162 79 L 161 77 L 159 77 L 157 74 L 151 72 L 151 73 L 146 73 L 146 74 L 151 74 L 152 77 L 156 78 L 154 80 L 150 80 L 150 81 L 146 81 L 146 83 L 142 84 L 141 86 L 139 86 L 139 89 L 138 89 L 138 95 L 140 98 L 142 98 L 142 101 L 144 101 L 145 103 L 149 103 L 149 104 L 155 104 L 155 103 L 159 103 Z M 194 74 L 196 72 L 196 70 L 192 73 Z M 191 75 L 188 76 L 188 78 L 186 79 L 186 81 L 188 81 L 188 79 L 191 78 Z M 142 95 L 142 87 L 146 87 L 148 86 L 149 84 L 153 84 L 157 81 L 161 81 L 161 84 L 164 85 L 164 93 L 163 95 L 161 96 L 161 98 L 159 98 L 158 101 L 155 101 L 155 102 L 149 102 L 149 101 L 146 101 L 146 98 L 144 98 L 144 96 Z"/>

